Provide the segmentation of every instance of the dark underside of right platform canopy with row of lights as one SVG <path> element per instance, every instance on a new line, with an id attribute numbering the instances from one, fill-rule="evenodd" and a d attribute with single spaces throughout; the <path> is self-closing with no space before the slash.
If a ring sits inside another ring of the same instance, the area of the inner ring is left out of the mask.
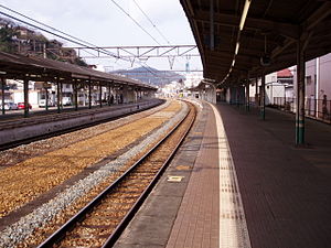
<path id="1" fill-rule="evenodd" d="M 204 77 L 232 85 L 331 52 L 327 0 L 181 0 L 201 53 Z"/>

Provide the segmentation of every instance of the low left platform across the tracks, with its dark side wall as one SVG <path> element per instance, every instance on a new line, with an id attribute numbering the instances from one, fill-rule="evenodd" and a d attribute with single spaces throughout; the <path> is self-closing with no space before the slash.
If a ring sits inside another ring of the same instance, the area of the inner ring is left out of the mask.
<path id="1" fill-rule="evenodd" d="M 104 106 L 93 109 L 66 109 L 57 114 L 51 111 L 35 112 L 29 118 L 15 117 L 15 115 L 0 117 L 0 149 L 17 145 L 18 142 L 31 141 L 40 137 L 52 137 L 70 130 L 88 127 L 106 120 L 116 119 L 135 112 L 139 112 L 163 104 L 161 99 L 139 100 L 137 103 Z"/>

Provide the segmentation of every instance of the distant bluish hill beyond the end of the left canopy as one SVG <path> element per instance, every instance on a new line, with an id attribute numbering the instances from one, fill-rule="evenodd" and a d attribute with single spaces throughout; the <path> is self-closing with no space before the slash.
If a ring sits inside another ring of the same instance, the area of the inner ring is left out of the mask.
<path id="1" fill-rule="evenodd" d="M 185 77 L 178 73 L 173 73 L 171 71 L 159 71 L 151 67 L 138 67 L 132 69 L 118 69 L 111 73 L 125 75 L 130 78 L 136 78 L 138 80 L 154 85 L 154 86 L 163 86 L 173 80 L 184 80 Z"/>

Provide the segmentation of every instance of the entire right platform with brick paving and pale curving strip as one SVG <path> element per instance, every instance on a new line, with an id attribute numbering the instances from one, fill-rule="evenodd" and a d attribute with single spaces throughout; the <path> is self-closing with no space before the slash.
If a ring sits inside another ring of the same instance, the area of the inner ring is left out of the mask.
<path id="1" fill-rule="evenodd" d="M 117 248 L 316 248 L 331 244 L 331 127 L 203 103 L 197 121 Z"/>

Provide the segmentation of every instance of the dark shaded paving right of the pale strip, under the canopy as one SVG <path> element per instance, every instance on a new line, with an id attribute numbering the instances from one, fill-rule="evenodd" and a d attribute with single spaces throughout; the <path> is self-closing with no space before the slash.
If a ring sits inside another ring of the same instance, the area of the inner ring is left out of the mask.
<path id="1" fill-rule="evenodd" d="M 331 247 L 331 127 L 307 120 L 293 145 L 293 116 L 217 106 L 237 172 L 252 247 Z M 317 160 L 318 158 L 318 160 Z"/>

